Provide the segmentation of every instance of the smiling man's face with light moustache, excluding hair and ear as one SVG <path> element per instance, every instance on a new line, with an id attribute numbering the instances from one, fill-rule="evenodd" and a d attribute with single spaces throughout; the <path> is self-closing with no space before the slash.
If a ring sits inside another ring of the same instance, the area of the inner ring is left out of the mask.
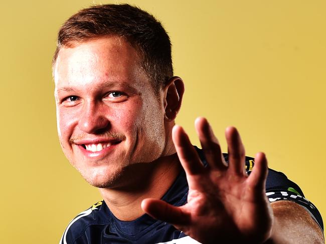
<path id="1" fill-rule="evenodd" d="M 164 107 L 136 50 L 116 37 L 62 48 L 55 65 L 58 134 L 71 164 L 92 185 L 114 187 L 125 167 L 165 147 Z"/>

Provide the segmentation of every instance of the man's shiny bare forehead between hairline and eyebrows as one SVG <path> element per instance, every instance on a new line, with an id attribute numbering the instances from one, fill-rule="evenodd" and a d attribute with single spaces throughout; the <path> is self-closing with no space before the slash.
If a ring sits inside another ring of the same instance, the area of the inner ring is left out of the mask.
<path id="1" fill-rule="evenodd" d="M 108 80 L 148 82 L 137 51 L 129 42 L 114 36 L 62 48 L 54 66 L 54 80 L 56 89 L 98 86 Z"/>

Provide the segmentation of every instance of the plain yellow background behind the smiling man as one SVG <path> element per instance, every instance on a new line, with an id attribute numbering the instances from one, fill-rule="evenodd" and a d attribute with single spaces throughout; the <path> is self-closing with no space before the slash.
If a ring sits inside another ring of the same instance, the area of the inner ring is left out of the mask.
<path id="1" fill-rule="evenodd" d="M 123 3 L 122 1 L 118 1 Z M 60 25 L 92 3 L 3 1 L 0 15 L 0 243 L 57 243 L 101 199 L 70 166 L 56 134 L 51 59 Z M 325 1 L 129 1 L 162 21 L 186 83 L 177 122 L 198 144 L 206 116 L 220 138 L 239 128 L 247 155 L 299 184 L 326 216 Z"/>

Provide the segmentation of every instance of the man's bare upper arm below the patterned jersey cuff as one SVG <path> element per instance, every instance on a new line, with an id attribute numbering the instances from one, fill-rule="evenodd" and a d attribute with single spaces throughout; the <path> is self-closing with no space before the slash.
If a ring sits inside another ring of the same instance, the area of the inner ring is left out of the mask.
<path id="1" fill-rule="evenodd" d="M 324 243 L 320 227 L 302 206 L 292 201 L 276 201 L 271 206 L 274 222 L 266 244 Z"/>

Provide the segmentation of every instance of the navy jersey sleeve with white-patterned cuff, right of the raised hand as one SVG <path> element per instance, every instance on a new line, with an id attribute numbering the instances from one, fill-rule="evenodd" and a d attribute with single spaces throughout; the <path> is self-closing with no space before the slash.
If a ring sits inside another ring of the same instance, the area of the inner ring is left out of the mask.
<path id="1" fill-rule="evenodd" d="M 246 170 L 250 174 L 254 166 L 253 158 L 246 157 Z M 287 200 L 293 201 L 305 208 L 311 217 L 318 223 L 323 231 L 323 222 L 321 215 L 315 205 L 304 197 L 300 187 L 289 180 L 282 172 L 268 169 L 266 180 L 266 196 L 270 202 Z"/>

